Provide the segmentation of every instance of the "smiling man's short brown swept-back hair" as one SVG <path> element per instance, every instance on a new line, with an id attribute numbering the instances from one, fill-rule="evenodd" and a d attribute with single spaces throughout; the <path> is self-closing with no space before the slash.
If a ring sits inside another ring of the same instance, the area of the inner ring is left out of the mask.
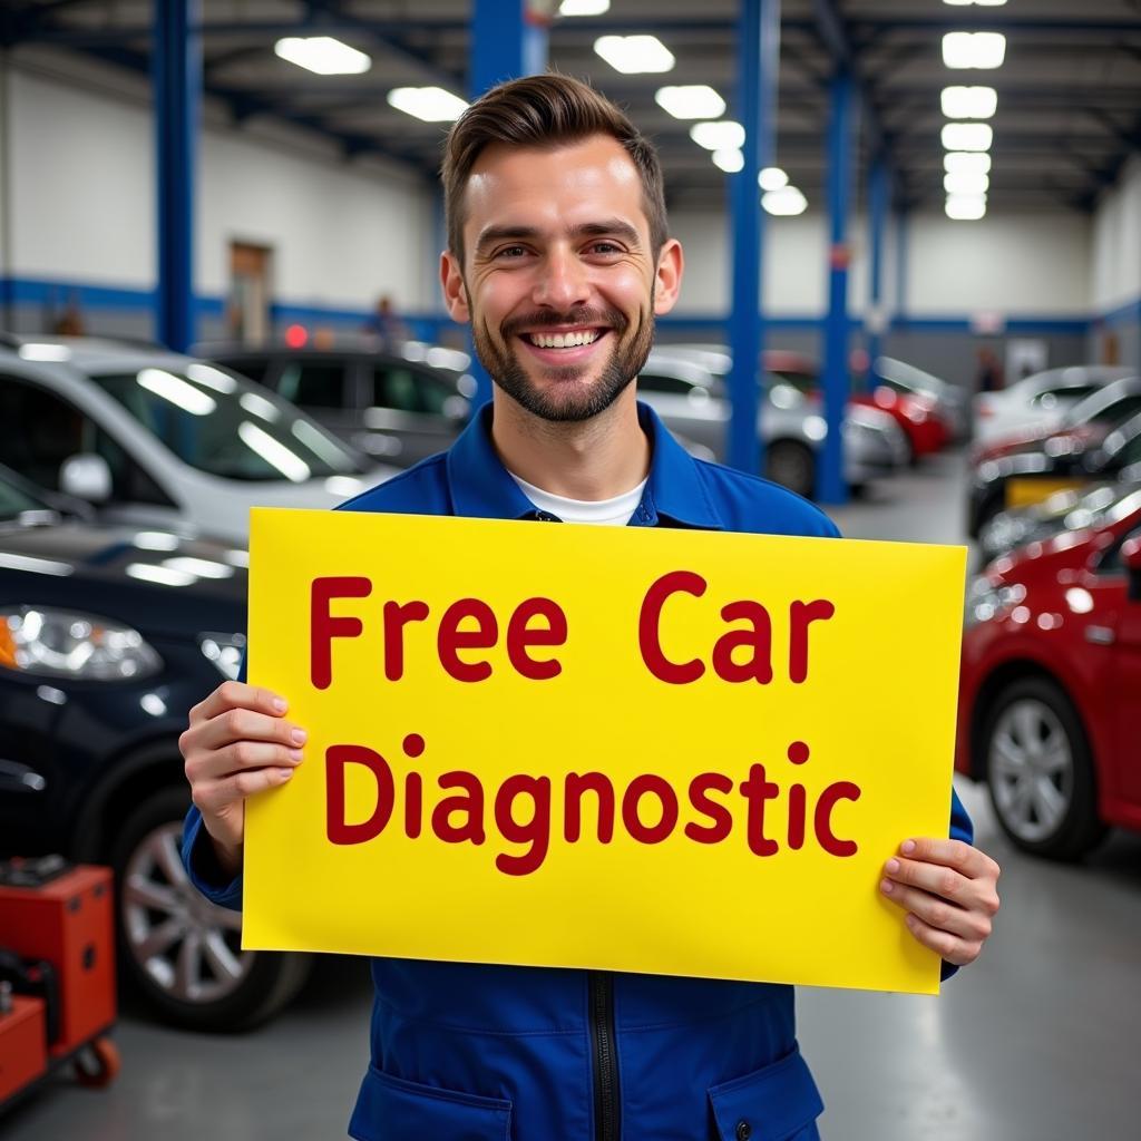
<path id="1" fill-rule="evenodd" d="M 657 151 L 609 99 L 581 80 L 558 74 L 528 75 L 493 87 L 460 115 L 448 132 L 440 171 L 448 249 L 463 261 L 464 192 L 485 147 L 503 143 L 550 148 L 591 135 L 617 139 L 638 168 L 650 252 L 656 260 L 669 237 Z"/>

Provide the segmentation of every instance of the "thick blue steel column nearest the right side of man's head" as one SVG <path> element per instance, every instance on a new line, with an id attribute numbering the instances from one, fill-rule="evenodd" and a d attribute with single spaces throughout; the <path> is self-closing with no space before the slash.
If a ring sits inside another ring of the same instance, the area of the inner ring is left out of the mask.
<path id="1" fill-rule="evenodd" d="M 764 212 L 756 176 L 772 160 L 780 56 L 780 0 L 741 0 L 737 17 L 738 114 L 745 128 L 745 164 L 730 179 L 733 202 L 733 311 L 729 348 L 733 415 L 726 455 L 742 471 L 760 471 L 758 377 L 764 349 L 761 313 Z"/>

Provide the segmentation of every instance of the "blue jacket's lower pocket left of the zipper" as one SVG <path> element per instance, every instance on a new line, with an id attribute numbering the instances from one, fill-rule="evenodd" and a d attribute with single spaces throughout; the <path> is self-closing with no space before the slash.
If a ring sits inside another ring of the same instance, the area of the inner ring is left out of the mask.
<path id="1" fill-rule="evenodd" d="M 374 1066 L 349 1122 L 357 1141 L 508 1141 L 510 1130 L 510 1101 L 406 1082 Z"/>

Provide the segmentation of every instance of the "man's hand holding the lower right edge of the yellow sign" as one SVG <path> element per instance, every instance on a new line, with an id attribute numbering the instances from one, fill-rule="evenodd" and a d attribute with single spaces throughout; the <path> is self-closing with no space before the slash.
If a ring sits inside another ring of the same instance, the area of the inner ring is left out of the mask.
<path id="1" fill-rule="evenodd" d="M 905 840 L 880 890 L 907 913 L 908 930 L 955 966 L 973 963 L 998 911 L 998 865 L 962 840 Z"/>

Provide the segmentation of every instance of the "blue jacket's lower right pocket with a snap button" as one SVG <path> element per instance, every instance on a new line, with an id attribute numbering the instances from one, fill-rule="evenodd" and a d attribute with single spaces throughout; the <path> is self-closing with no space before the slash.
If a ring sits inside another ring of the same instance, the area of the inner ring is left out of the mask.
<path id="1" fill-rule="evenodd" d="M 710 1106 L 720 1141 L 818 1141 L 824 1102 L 800 1050 L 763 1069 L 714 1085 Z"/>

